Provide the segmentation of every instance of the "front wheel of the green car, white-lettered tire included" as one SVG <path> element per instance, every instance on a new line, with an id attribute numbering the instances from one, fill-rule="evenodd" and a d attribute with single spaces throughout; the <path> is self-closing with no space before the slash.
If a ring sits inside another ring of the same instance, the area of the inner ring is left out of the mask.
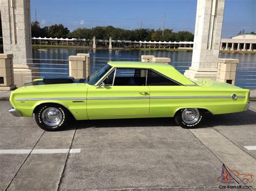
<path id="1" fill-rule="evenodd" d="M 43 104 L 35 112 L 37 125 L 45 131 L 63 130 L 69 124 L 69 111 L 58 104 Z"/>

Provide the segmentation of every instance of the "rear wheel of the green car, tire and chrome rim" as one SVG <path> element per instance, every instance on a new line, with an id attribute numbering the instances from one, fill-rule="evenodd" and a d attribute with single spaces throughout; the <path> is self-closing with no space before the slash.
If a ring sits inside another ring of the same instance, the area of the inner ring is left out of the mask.
<path id="1" fill-rule="evenodd" d="M 175 121 L 183 128 L 196 128 L 203 120 L 203 112 L 197 108 L 184 108 L 177 111 Z"/>

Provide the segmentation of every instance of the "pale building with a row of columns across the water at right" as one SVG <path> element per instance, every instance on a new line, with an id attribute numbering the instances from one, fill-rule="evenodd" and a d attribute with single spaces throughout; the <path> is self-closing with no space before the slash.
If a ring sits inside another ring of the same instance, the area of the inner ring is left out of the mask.
<path id="1" fill-rule="evenodd" d="M 239 34 L 229 39 L 221 39 L 220 50 L 256 51 L 256 34 Z"/>

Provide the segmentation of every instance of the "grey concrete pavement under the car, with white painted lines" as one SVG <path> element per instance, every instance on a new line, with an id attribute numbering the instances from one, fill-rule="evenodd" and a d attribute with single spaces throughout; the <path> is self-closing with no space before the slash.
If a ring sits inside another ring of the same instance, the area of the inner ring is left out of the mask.
<path id="1" fill-rule="evenodd" d="M 190 130 L 151 118 L 45 132 L 10 107 L 0 101 L 0 190 L 218 189 L 227 186 L 217 180 L 223 163 L 256 176 L 256 102 L 245 112 L 209 114 L 203 128 Z"/>

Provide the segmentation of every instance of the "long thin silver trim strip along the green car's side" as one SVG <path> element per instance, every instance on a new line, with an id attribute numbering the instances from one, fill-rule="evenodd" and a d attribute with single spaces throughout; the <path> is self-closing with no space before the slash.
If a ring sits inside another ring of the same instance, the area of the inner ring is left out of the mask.
<path id="1" fill-rule="evenodd" d="M 245 98 L 245 96 L 237 96 Z M 47 98 L 15 98 L 16 101 L 41 100 L 133 100 L 133 99 L 187 99 L 187 98 L 232 98 L 232 96 L 137 96 L 137 97 L 47 97 Z"/>

